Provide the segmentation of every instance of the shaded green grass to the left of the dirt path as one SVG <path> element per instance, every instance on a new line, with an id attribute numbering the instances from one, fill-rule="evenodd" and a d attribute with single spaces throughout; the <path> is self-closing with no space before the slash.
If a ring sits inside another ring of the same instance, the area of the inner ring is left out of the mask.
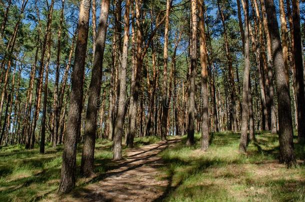
<path id="1" fill-rule="evenodd" d="M 135 147 L 159 142 L 158 137 L 135 138 Z M 79 169 L 82 145 L 77 148 Z M 24 150 L 23 145 L 0 149 L 0 202 L 38 201 L 48 194 L 56 193 L 60 179 L 62 147 L 46 147 L 39 154 L 38 145 L 33 150 Z M 102 174 L 116 166 L 111 162 L 111 142 L 97 140 L 95 146 L 95 172 Z M 79 174 L 79 170 L 77 171 Z M 77 185 L 84 186 L 87 179 L 77 176 Z"/>

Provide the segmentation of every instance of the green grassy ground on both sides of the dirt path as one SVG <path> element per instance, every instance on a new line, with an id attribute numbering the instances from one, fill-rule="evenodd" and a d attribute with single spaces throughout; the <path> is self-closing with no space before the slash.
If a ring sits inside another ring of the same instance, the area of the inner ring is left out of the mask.
<path id="1" fill-rule="evenodd" d="M 238 153 L 239 136 L 232 133 L 213 135 L 207 152 L 197 144 L 186 147 L 181 143 L 163 151 L 164 165 L 158 179 L 167 179 L 170 185 L 157 201 L 303 201 L 305 202 L 305 167 L 286 169 L 278 164 L 278 139 L 271 134 L 258 134 L 257 143 L 250 143 L 247 155 Z M 135 145 L 153 144 L 157 137 L 136 138 Z M 82 145 L 77 148 L 77 169 Z M 99 175 L 116 166 L 111 161 L 111 142 L 98 140 L 95 148 L 95 172 Z M 40 155 L 24 150 L 23 145 L 0 149 L 0 202 L 39 201 L 56 193 L 59 185 L 62 147 L 46 148 Z M 304 155 L 295 144 L 297 159 Z M 300 162 L 300 161 L 299 161 Z M 79 171 L 77 171 L 78 175 Z M 77 188 L 88 179 L 77 176 Z M 90 183 L 94 183 L 91 182 Z"/>

